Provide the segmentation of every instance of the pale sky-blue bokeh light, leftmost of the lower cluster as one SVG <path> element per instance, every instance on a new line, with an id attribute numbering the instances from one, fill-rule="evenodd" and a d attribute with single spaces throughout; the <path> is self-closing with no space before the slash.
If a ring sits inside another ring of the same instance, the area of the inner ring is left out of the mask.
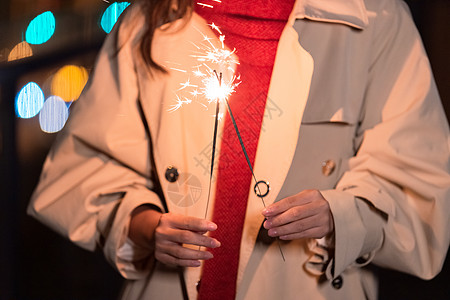
<path id="1" fill-rule="evenodd" d="M 44 105 L 44 93 L 35 82 L 27 83 L 16 98 L 16 115 L 20 118 L 32 118 Z"/>

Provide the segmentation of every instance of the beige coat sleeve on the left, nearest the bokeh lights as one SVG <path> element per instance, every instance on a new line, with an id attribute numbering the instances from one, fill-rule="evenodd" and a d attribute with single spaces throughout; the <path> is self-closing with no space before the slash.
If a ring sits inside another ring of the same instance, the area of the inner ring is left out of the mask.
<path id="1" fill-rule="evenodd" d="M 139 22 L 136 13 L 129 13 L 108 35 L 28 207 L 30 215 L 77 245 L 101 247 L 107 260 L 131 279 L 143 272 L 117 256 L 130 213 L 144 203 L 162 207 L 153 192 L 132 55 Z"/>

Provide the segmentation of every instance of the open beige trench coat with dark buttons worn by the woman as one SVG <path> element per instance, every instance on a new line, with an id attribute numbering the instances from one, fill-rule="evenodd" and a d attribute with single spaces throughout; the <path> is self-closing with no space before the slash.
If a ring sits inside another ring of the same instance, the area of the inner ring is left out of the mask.
<path id="1" fill-rule="evenodd" d="M 162 28 L 152 55 L 169 72 L 151 76 L 136 46 L 142 24 L 132 7 L 107 38 L 28 211 L 83 248 L 102 247 L 129 279 L 124 299 L 182 299 L 177 271 L 137 264 L 142 249 L 126 235 L 130 212 L 144 203 L 205 214 L 213 106 L 168 111 L 186 96 L 187 75 L 176 69 L 198 65 L 192 53 L 205 37 L 220 42 L 195 14 Z M 170 166 L 180 174 L 174 183 Z M 405 4 L 298 1 L 277 51 L 254 170 L 270 182 L 267 204 L 320 189 L 335 235 L 283 242 L 283 262 L 277 243 L 261 237 L 263 206 L 251 189 L 237 299 L 376 299 L 369 263 L 433 277 L 450 238 L 448 169 L 447 121 Z M 196 299 L 200 269 L 184 278 Z"/>

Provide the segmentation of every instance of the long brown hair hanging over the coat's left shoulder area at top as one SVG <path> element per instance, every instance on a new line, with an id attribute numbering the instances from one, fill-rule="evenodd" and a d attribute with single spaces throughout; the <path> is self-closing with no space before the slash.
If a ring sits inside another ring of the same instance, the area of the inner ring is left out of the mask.
<path id="1" fill-rule="evenodd" d="M 145 30 L 142 36 L 140 51 L 144 61 L 152 70 L 166 71 L 151 56 L 151 46 L 155 30 L 163 24 L 190 16 L 193 0 L 141 0 L 145 14 Z"/>

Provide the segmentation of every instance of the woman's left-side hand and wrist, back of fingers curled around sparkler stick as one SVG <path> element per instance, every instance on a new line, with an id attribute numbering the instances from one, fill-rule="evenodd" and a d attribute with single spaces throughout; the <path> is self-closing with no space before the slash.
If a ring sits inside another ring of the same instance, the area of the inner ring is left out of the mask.
<path id="1" fill-rule="evenodd" d="M 149 208 L 135 212 L 130 221 L 129 237 L 139 246 L 149 247 L 154 241 L 155 258 L 162 263 L 199 267 L 200 260 L 210 259 L 213 255 L 206 250 L 184 245 L 208 248 L 220 246 L 219 241 L 205 235 L 217 229 L 213 222 L 174 213 L 162 214 Z"/>

